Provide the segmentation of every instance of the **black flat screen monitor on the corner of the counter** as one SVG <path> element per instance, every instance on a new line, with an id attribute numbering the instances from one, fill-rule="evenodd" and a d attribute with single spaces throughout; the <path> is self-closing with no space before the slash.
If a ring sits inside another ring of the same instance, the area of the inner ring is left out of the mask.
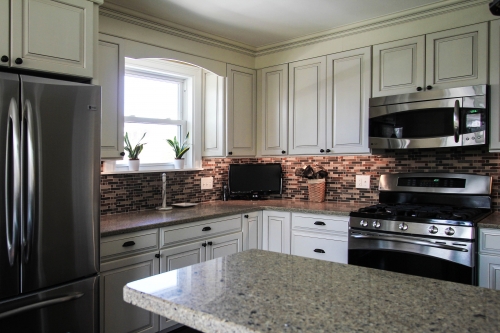
<path id="1" fill-rule="evenodd" d="M 281 194 L 281 164 L 230 164 L 229 192 L 232 196 L 261 199 L 261 195 Z"/>

